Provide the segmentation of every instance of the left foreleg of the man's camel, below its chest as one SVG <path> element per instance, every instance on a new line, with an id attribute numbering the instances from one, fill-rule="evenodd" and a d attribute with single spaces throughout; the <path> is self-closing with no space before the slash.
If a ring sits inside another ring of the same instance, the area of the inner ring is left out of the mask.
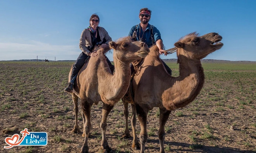
<path id="1" fill-rule="evenodd" d="M 136 111 L 137 111 L 137 116 L 138 120 L 140 121 L 140 153 L 144 153 L 145 151 L 145 143 L 147 142 L 147 113 L 148 109 L 147 108 L 142 108 L 139 105 L 136 105 Z"/>

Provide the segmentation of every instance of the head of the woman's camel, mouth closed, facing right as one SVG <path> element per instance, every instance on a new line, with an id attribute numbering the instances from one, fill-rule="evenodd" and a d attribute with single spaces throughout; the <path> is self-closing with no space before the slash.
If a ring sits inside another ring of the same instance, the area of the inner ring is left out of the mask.
<path id="1" fill-rule="evenodd" d="M 129 37 L 109 42 L 109 46 L 114 49 L 114 57 L 122 62 L 130 63 L 149 54 L 149 48 L 144 42 L 132 42 Z"/>

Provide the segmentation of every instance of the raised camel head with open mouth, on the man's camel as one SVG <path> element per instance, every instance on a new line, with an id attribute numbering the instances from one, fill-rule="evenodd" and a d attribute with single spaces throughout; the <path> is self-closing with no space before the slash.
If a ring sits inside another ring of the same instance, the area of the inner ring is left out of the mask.
<path id="1" fill-rule="evenodd" d="M 178 48 L 177 55 L 184 55 L 189 59 L 202 59 L 223 46 L 221 39 L 218 33 L 212 32 L 199 37 L 194 32 L 181 38 L 174 45 Z"/>

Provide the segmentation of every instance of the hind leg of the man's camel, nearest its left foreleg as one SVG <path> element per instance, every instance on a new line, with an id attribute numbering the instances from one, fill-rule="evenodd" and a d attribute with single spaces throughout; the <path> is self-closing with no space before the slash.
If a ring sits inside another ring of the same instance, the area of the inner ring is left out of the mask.
<path id="1" fill-rule="evenodd" d="M 131 114 L 131 127 L 132 127 L 132 132 L 133 132 L 133 141 L 132 141 L 132 148 L 134 149 L 139 149 L 140 148 L 140 143 L 138 143 L 138 138 L 136 135 L 136 106 L 134 104 L 131 104 L 132 108 L 132 114 Z"/>

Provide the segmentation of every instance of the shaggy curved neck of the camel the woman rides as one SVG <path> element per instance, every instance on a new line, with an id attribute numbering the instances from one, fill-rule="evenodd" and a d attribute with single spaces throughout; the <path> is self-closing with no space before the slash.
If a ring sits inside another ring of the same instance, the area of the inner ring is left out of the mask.
<path id="1" fill-rule="evenodd" d="M 125 95 L 131 77 L 131 70 L 129 63 L 124 63 L 119 61 L 114 54 L 114 65 L 115 72 L 114 75 L 105 78 L 107 84 L 107 93 L 105 94 L 105 100 L 109 103 L 117 102 Z M 106 92 L 105 91 L 105 92 Z M 102 99 L 103 100 L 103 99 Z"/>

